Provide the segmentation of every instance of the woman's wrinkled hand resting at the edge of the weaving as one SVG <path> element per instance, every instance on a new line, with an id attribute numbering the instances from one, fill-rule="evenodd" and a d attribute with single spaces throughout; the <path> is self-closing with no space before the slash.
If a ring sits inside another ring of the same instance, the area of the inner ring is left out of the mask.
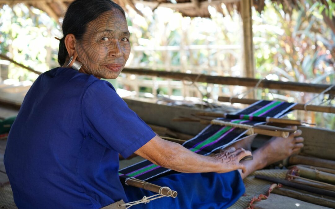
<path id="1" fill-rule="evenodd" d="M 246 172 L 246 167 L 240 163 L 240 161 L 245 156 L 250 156 L 251 151 L 245 150 L 243 148 L 235 149 L 235 147 L 230 147 L 228 149 L 220 150 L 220 153 L 212 155 L 220 164 L 221 169 L 217 173 L 226 173 L 229 171 L 234 171 L 241 169 L 242 172 Z"/>

